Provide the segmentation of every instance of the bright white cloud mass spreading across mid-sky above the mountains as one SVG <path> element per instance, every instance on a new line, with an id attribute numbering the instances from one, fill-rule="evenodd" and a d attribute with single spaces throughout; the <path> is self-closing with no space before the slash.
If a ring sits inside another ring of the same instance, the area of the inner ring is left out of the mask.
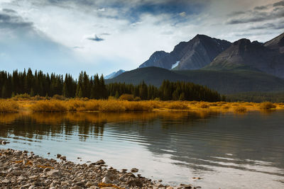
<path id="1" fill-rule="evenodd" d="M 78 6 L 78 1 L 54 5 L 48 1 L 35 0 L 1 1 L 1 6 L 17 11 L 48 38 L 69 47 L 75 57 L 85 62 L 82 69 L 92 66 L 99 73 L 108 74 L 116 69 L 134 69 L 156 50 L 170 52 L 178 42 L 190 40 L 197 33 L 238 40 L 240 34 L 245 34 L 244 28 L 249 30 L 249 25 L 241 28 L 238 25 L 227 25 L 229 13 L 249 11 L 255 6 L 273 4 L 276 1 L 197 1 L 204 3 L 202 12 L 188 16 L 185 11 L 180 11 L 175 14 L 177 18 L 170 13 L 141 13 L 136 21 L 129 20 L 127 14 L 137 4 L 142 4 L 142 1 L 131 1 L 129 6 L 122 8 L 102 6 L 104 3 L 101 1 L 94 1 L 95 7 Z M 147 2 L 158 4 L 161 1 Z M 254 36 L 244 37 L 268 40 L 277 32 L 273 30 L 267 35 L 255 32 Z M 103 35 L 104 33 L 110 35 Z M 96 35 L 104 40 L 86 40 Z"/>

